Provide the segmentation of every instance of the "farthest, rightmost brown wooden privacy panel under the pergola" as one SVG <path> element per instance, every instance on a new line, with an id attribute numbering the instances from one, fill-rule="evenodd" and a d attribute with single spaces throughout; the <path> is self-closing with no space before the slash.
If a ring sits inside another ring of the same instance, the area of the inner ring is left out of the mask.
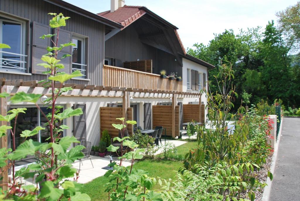
<path id="1" fill-rule="evenodd" d="M 204 122 L 205 105 L 201 105 L 201 119 Z M 191 122 L 192 120 L 199 122 L 199 105 L 184 104 L 183 105 L 183 122 Z"/>

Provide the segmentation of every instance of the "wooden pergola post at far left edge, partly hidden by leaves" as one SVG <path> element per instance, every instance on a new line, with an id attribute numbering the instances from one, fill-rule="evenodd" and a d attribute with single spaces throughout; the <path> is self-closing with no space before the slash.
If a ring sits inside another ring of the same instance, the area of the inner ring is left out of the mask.
<path id="1" fill-rule="evenodd" d="M 0 93 L 3 92 L 7 92 L 7 86 L 1 86 L 0 88 Z M 0 98 L 0 102 L 1 102 L 1 115 L 6 116 L 7 115 L 7 99 L 6 98 Z M 0 126 L 6 125 L 7 126 L 7 122 L 6 121 L 0 121 Z M 5 136 L 0 138 L 0 148 L 7 148 L 7 133 Z M 7 183 L 8 182 L 8 167 L 2 167 L 1 168 L 1 176 L 3 177 L 2 182 L 1 183 Z M 2 186 L 3 190 L 7 190 L 7 186 L 3 185 Z"/>

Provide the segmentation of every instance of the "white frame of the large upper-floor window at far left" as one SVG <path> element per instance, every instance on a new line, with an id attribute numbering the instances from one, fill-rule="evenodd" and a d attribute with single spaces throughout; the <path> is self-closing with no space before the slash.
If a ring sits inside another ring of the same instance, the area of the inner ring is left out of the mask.
<path id="1" fill-rule="evenodd" d="M 20 40 L 20 53 L 21 54 L 17 54 L 17 53 L 12 53 L 12 52 L 6 52 L 6 51 L 3 51 L 3 50 L 0 50 L 0 71 L 14 71 L 14 72 L 26 72 L 26 57 L 27 55 L 25 55 L 25 51 L 26 51 L 26 22 L 25 21 L 22 21 L 22 20 L 19 20 L 19 19 L 15 19 L 15 18 L 12 18 L 12 17 L 8 17 L 8 16 L 5 16 L 5 15 L 1 15 L 0 14 L 0 17 L 3 17 L 3 18 L 6 18 L 6 19 L 0 19 L 0 43 L 3 43 L 2 42 L 2 25 L 3 25 L 3 21 L 4 22 L 12 22 L 12 23 L 15 23 L 15 24 L 20 24 L 21 25 L 21 40 Z M 7 20 L 8 19 L 8 20 Z M 5 59 L 5 61 L 3 61 L 4 59 L 2 58 L 2 53 L 7 53 L 7 54 L 11 54 L 11 55 L 18 55 L 21 57 L 20 61 L 18 60 L 13 60 L 13 59 Z M 20 67 L 7 67 L 7 66 L 3 66 L 2 64 L 4 62 L 7 62 L 7 61 L 12 61 L 12 62 L 17 62 L 17 63 L 20 63 Z"/>

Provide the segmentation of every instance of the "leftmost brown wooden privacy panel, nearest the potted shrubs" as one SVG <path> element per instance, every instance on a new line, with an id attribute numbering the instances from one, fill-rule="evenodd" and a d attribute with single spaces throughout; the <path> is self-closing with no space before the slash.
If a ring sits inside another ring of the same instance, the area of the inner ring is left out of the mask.
<path id="1" fill-rule="evenodd" d="M 112 138 L 119 136 L 119 130 L 115 129 L 112 124 L 121 124 L 120 120 L 116 120 L 116 118 L 120 118 L 123 116 L 122 112 L 123 108 L 120 107 L 101 107 L 100 108 L 100 130 L 101 133 L 105 129 L 108 130 L 108 133 Z M 133 108 L 128 108 L 127 110 L 127 119 L 132 120 Z M 132 134 L 132 126 L 128 126 L 128 133 Z"/>

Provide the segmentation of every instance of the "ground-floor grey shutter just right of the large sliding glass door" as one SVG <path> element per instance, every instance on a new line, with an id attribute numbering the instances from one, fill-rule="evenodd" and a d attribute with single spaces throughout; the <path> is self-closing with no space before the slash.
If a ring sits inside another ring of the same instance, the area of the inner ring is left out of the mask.
<path id="1" fill-rule="evenodd" d="M 76 139 L 80 142 L 87 141 L 86 140 L 86 118 L 85 118 L 86 105 L 74 104 L 74 110 L 77 108 L 81 108 L 83 114 L 79 116 L 74 116 L 74 137 L 76 137 Z"/>

